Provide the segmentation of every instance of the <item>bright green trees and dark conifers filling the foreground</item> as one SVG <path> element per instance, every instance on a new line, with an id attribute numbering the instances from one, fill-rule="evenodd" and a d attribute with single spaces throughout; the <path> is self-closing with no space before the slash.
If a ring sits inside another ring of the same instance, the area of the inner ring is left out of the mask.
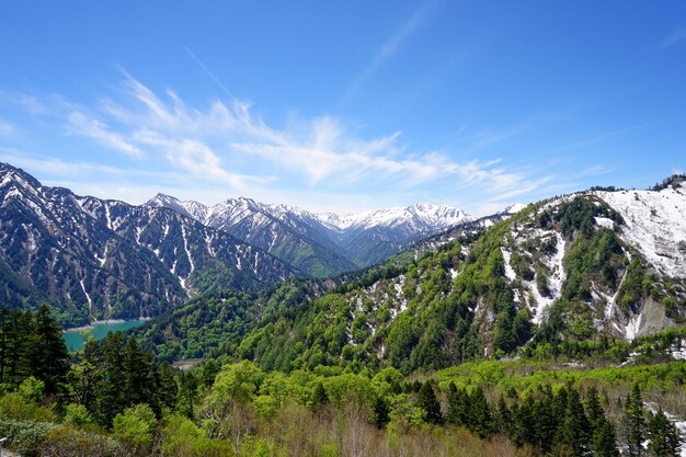
<path id="1" fill-rule="evenodd" d="M 27 457 L 677 456 L 674 416 L 686 413 L 685 362 L 483 361 L 408 377 L 351 366 L 284 374 L 225 356 L 179 372 L 121 333 L 67 358 L 56 330 L 47 308 L 0 327 L 0 373 L 13 373 L 2 378 L 0 433 Z M 60 368 L 36 369 L 47 366 L 28 364 L 36 354 Z"/>

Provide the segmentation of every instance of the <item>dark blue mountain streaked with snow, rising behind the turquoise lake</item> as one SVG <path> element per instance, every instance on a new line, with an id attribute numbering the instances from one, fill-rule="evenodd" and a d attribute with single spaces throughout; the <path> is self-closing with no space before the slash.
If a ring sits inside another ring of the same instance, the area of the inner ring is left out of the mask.
<path id="1" fill-rule="evenodd" d="M 165 208 L 80 197 L 0 163 L 0 299 L 66 323 L 156 316 L 195 292 L 256 289 L 296 269 Z"/>

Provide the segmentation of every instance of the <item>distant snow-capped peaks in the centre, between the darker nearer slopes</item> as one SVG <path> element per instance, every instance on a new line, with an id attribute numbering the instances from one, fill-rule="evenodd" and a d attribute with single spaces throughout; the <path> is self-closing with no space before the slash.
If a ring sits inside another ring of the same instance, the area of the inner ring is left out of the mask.
<path id="1" fill-rule="evenodd" d="M 381 262 L 422 238 L 471 220 L 460 209 L 432 204 L 346 216 L 312 214 L 244 197 L 205 206 L 158 194 L 146 205 L 194 217 L 316 276 Z"/>

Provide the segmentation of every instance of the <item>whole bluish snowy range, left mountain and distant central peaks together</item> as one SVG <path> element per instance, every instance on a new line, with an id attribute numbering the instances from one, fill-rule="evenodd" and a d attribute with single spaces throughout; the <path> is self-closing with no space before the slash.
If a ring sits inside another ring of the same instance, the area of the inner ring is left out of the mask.
<path id="1" fill-rule="evenodd" d="M 466 220 L 433 205 L 345 218 L 249 198 L 208 207 L 160 194 L 135 206 L 2 163 L 0 299 L 48 301 L 67 325 L 151 317 L 196 294 L 357 270 Z"/>

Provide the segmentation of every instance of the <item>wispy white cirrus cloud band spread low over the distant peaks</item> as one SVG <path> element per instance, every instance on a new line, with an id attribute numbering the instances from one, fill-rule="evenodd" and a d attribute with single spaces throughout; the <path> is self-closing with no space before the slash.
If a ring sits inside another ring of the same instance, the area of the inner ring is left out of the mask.
<path id="1" fill-rule="evenodd" d="M 276 126 L 254 114 L 248 102 L 214 100 L 197 106 L 174 91 L 156 92 L 125 70 L 122 75 L 114 94 L 90 106 L 57 98 L 45 112 L 49 114 L 36 115 L 57 118 L 71 137 L 122 153 L 133 168 L 175 173 L 174 182 L 203 195 L 287 198 L 288 194 L 319 194 L 336 202 L 335 195 L 351 193 L 419 198 L 441 188 L 436 198 L 443 201 L 446 195 L 478 195 L 490 205 L 501 205 L 550 179 L 531 178 L 528 170 L 514 170 L 500 159 L 469 158 L 475 150 L 518 135 L 528 125 L 475 135 L 473 144 L 461 153 L 468 158 L 457 161 L 445 151 L 411 150 L 401 132 L 363 137 L 334 116 L 296 118 Z"/>

